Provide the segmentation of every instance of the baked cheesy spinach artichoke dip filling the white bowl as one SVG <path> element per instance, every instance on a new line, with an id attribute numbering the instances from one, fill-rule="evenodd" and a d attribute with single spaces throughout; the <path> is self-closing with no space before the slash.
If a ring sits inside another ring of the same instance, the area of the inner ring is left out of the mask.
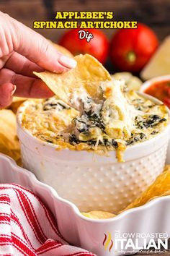
<path id="1" fill-rule="evenodd" d="M 102 97 L 80 86 L 69 93 L 69 104 L 58 99 L 31 100 L 22 116 L 22 126 L 38 139 L 53 143 L 57 150 L 89 150 L 108 154 L 116 150 L 122 161 L 125 148 L 150 140 L 169 123 L 166 106 L 157 105 L 124 82 L 100 82 Z"/>

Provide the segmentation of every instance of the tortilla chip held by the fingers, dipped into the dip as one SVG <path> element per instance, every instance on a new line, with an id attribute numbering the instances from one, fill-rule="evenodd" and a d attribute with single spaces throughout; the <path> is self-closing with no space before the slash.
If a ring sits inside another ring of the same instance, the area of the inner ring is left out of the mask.
<path id="1" fill-rule="evenodd" d="M 99 82 L 112 81 L 109 72 L 89 54 L 74 57 L 77 65 L 67 72 L 56 74 L 52 72 L 33 72 L 48 88 L 57 95 L 59 99 L 71 105 L 69 95 L 75 89 L 84 88 L 92 98 L 101 98 L 102 91 L 99 90 Z"/>

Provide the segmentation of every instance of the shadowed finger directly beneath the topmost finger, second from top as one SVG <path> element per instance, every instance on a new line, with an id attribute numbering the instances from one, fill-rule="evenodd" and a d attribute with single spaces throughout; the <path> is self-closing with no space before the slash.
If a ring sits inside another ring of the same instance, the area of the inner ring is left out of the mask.
<path id="1" fill-rule="evenodd" d="M 23 74 L 28 77 L 35 77 L 32 73 L 33 71 L 42 72 L 44 70 L 17 52 L 14 52 L 12 56 L 9 57 L 4 67 L 6 69 L 11 69 L 17 74 Z"/>

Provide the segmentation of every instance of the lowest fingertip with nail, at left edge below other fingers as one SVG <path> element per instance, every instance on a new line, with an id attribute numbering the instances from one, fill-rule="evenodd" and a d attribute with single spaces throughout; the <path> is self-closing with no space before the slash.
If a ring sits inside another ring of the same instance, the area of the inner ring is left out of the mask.
<path id="1" fill-rule="evenodd" d="M 12 97 L 16 90 L 16 86 L 10 82 L 0 85 L 0 108 L 6 108 L 12 103 Z"/>

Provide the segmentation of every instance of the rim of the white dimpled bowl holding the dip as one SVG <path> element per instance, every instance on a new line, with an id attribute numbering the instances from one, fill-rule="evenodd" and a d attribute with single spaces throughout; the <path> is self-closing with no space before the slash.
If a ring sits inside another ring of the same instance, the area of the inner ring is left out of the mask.
<path id="1" fill-rule="evenodd" d="M 170 76 L 169 76 L 170 77 Z M 137 92 L 139 95 L 143 96 L 144 98 L 148 98 L 149 100 L 161 105 L 163 104 L 161 101 L 159 101 L 157 98 L 154 98 L 153 96 L 151 95 L 148 95 L 146 93 L 143 93 L 143 92 Z M 26 137 L 30 137 L 32 140 L 34 140 L 35 142 L 39 143 L 39 145 L 45 145 L 47 146 L 48 148 L 55 148 L 57 149 L 58 148 L 58 145 L 55 145 L 53 143 L 50 143 L 50 142 L 45 142 L 43 140 L 40 140 L 38 139 L 37 137 L 35 137 L 34 135 L 32 135 L 32 133 L 28 130 L 28 129 L 25 129 L 23 126 L 22 126 L 22 113 L 24 112 L 24 109 L 28 106 L 29 102 L 32 101 L 34 99 L 29 99 L 27 101 L 24 101 L 18 108 L 17 110 L 17 129 L 21 129 L 22 132 L 24 132 L 24 135 L 26 135 Z M 166 107 L 167 111 L 168 111 L 168 114 L 170 116 L 170 109 L 168 107 Z M 166 131 L 170 129 L 170 121 L 169 121 L 169 124 L 165 127 L 165 129 L 158 133 L 158 135 L 156 135 L 155 137 L 152 137 L 150 140 L 145 140 L 143 142 L 140 142 L 140 143 L 137 143 L 135 145 L 130 145 L 129 147 L 126 148 L 125 152 L 127 151 L 130 151 L 130 150 L 138 150 L 138 148 L 140 148 L 140 146 L 147 146 L 147 145 L 150 145 L 152 142 L 154 142 L 156 139 L 158 139 L 159 137 L 161 137 L 164 133 L 166 133 Z M 65 150 L 65 151 L 70 151 L 68 148 L 64 148 L 62 150 Z M 79 152 L 77 150 L 71 150 L 73 152 Z M 81 152 L 85 152 L 86 150 L 81 150 Z M 87 152 L 87 151 L 86 151 Z M 109 152 L 115 152 L 115 150 L 110 150 Z M 91 152 L 88 152 L 88 153 L 91 153 Z M 92 152 L 94 153 L 94 152 Z"/>

